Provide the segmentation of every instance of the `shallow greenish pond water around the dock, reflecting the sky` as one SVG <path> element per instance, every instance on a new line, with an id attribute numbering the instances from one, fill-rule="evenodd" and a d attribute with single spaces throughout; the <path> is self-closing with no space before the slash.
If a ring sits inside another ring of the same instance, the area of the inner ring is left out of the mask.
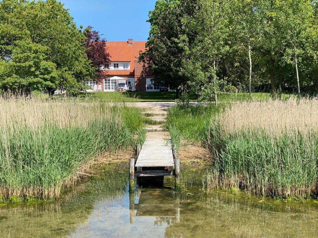
<path id="1" fill-rule="evenodd" d="M 203 191 L 203 173 L 183 169 L 186 192 L 128 193 L 128 171 L 108 169 L 55 202 L 0 206 L 0 237 L 316 237 L 318 203 Z M 153 184 L 153 183 L 152 183 Z"/>

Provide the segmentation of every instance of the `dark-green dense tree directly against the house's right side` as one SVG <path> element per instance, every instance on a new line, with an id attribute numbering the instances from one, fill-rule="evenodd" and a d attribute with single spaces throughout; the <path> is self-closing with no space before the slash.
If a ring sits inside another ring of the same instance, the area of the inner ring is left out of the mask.
<path id="1" fill-rule="evenodd" d="M 176 89 L 186 84 L 188 78 L 181 72 L 184 49 L 179 45 L 183 35 L 182 18 L 191 16 L 197 0 L 158 0 L 155 9 L 149 12 L 150 31 L 147 51 L 140 60 L 148 63 L 156 75 L 156 81 Z"/>

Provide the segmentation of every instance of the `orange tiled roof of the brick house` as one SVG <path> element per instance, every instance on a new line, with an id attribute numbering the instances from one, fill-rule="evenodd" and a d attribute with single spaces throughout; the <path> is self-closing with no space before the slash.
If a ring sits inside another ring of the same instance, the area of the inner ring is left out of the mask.
<path id="1" fill-rule="evenodd" d="M 107 41 L 107 52 L 113 62 L 130 62 L 130 70 L 109 70 L 108 75 L 134 75 L 135 59 L 141 52 L 146 50 L 146 41 L 134 41 L 128 44 L 127 41 Z"/>

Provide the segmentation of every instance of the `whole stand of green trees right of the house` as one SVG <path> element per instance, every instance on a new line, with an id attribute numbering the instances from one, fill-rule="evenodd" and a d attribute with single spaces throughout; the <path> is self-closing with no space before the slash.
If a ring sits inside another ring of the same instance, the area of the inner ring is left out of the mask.
<path id="1" fill-rule="evenodd" d="M 158 55 L 151 68 L 184 76 L 182 84 L 202 100 L 217 99 L 229 84 L 278 98 L 299 89 L 303 95 L 317 93 L 317 1 L 198 0 L 184 4 L 191 9 L 186 12 L 177 10 L 180 2 L 157 1 L 150 14 L 154 24 L 145 55 Z M 166 31 L 174 40 L 167 45 L 177 43 L 178 51 L 158 43 Z M 175 58 L 178 63 L 171 63 Z M 170 64 L 174 70 L 167 70 Z"/>

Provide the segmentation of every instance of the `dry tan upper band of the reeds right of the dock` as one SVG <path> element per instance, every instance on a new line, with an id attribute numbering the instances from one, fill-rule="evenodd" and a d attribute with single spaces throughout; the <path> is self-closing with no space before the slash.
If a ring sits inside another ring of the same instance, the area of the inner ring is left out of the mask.
<path id="1" fill-rule="evenodd" d="M 318 129 L 318 100 L 236 102 L 225 109 L 218 122 L 226 133 L 242 129 L 254 133 L 266 128 L 272 136 L 294 131 L 307 135 Z"/>

